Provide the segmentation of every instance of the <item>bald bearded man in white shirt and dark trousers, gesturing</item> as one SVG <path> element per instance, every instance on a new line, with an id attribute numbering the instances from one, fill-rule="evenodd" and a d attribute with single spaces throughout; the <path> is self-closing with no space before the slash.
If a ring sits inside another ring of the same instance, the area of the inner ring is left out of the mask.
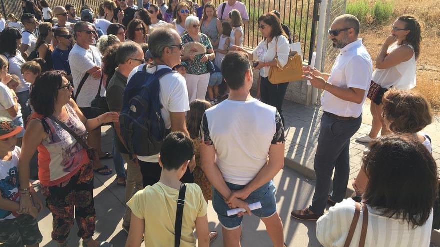
<path id="1" fill-rule="evenodd" d="M 350 138 L 362 123 L 362 107 L 369 90 L 372 62 L 362 39 L 360 23 L 350 14 L 337 17 L 328 31 L 333 47 L 340 49 L 330 74 L 304 67 L 304 78 L 322 89 L 324 114 L 314 158 L 316 187 L 312 204 L 291 215 L 300 220 L 317 220 L 326 204 L 333 206 L 345 197 L 350 173 Z M 331 195 L 331 176 L 334 171 Z"/>

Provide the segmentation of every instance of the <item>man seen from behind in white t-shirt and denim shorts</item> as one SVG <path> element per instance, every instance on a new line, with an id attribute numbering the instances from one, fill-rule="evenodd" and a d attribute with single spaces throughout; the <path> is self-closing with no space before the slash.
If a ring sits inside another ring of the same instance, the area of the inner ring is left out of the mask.
<path id="1" fill-rule="evenodd" d="M 200 127 L 201 167 L 214 187 L 212 205 L 222 225 L 224 246 L 240 246 L 241 217 L 231 208 L 261 218 L 274 247 L 283 247 L 273 177 L 284 166 L 284 127 L 275 107 L 250 96 L 252 66 L 246 54 L 231 52 L 222 63 L 229 98 L 206 110 Z M 248 204 L 262 208 L 250 211 Z"/>

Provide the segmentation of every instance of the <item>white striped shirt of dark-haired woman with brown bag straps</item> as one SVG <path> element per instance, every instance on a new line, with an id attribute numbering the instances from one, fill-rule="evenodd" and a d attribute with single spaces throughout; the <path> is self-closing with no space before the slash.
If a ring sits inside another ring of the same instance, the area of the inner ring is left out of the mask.
<path id="1" fill-rule="evenodd" d="M 344 199 L 321 216 L 316 225 L 316 237 L 324 247 L 342 247 L 350 230 L 355 211 L 353 199 Z M 433 213 L 423 226 L 412 229 L 407 221 L 380 216 L 380 211 L 368 207 L 368 230 L 365 247 L 429 247 Z M 350 247 L 359 246 L 363 212 L 360 212 Z"/>

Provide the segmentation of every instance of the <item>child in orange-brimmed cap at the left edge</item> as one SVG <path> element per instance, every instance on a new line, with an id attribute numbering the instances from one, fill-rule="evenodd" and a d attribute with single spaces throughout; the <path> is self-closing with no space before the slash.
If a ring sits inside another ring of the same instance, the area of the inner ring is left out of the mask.
<path id="1" fill-rule="evenodd" d="M 38 247 L 42 241 L 36 217 L 42 209 L 42 202 L 30 187 L 27 192 L 19 191 L 18 160 L 21 149 L 16 146 L 16 134 L 23 128 L 10 119 L 0 117 L 0 243 L 8 247 Z M 35 206 L 29 214 L 20 214 L 20 195 L 30 193 Z"/>

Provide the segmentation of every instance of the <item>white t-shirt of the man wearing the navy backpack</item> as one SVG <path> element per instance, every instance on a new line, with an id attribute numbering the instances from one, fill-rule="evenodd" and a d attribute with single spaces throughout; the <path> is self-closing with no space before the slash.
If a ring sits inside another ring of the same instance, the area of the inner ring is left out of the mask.
<path id="1" fill-rule="evenodd" d="M 141 64 L 133 69 L 128 75 L 128 83 L 131 77 L 137 72 L 143 69 L 145 64 Z M 169 68 L 166 65 L 159 65 L 157 69 Z M 148 67 L 146 69 L 148 73 L 154 73 L 156 67 Z M 163 121 L 165 122 L 165 128 L 171 128 L 170 112 L 186 112 L 189 111 L 189 99 L 188 89 L 186 88 L 185 78 L 180 73 L 169 73 L 160 78 L 160 103 L 162 108 L 160 113 L 162 114 Z M 137 156 L 141 161 L 145 162 L 159 162 L 159 154 L 152 156 Z"/>

